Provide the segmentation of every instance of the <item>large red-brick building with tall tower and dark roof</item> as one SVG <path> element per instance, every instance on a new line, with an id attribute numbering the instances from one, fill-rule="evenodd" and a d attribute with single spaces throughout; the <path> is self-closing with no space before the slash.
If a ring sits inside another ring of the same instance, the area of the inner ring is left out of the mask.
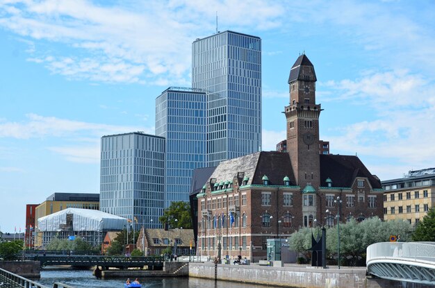
<path id="1" fill-rule="evenodd" d="M 287 152 L 221 162 L 197 194 L 199 255 L 265 259 L 267 239 L 289 237 L 314 219 L 333 226 L 338 205 L 340 221 L 383 217 L 379 178 L 356 156 L 320 154 L 316 80 L 299 56 L 288 79 Z"/>

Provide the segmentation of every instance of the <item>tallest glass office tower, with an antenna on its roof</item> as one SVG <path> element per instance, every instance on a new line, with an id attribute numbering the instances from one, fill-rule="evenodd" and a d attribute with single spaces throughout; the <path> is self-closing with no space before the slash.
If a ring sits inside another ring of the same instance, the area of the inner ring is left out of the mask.
<path id="1" fill-rule="evenodd" d="M 261 149 L 261 39 L 224 31 L 192 43 L 192 87 L 207 94 L 207 162 Z"/>

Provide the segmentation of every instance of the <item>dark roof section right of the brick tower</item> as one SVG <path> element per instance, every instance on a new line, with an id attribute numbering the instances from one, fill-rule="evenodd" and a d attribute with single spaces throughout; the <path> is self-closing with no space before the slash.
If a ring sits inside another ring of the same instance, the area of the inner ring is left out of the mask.
<path id="1" fill-rule="evenodd" d="M 373 176 L 356 156 L 320 155 L 320 186 L 326 187 L 331 178 L 333 187 L 352 187 L 356 177 L 368 178 L 373 189 L 380 189 L 379 178 Z"/>

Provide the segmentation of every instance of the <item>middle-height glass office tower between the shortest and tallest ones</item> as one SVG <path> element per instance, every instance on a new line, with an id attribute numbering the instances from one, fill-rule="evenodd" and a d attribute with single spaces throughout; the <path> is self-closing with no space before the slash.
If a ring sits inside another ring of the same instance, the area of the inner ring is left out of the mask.
<path id="1" fill-rule="evenodd" d="M 169 87 L 156 98 L 156 135 L 166 139 L 165 207 L 188 201 L 192 171 L 206 166 L 206 94 Z"/>

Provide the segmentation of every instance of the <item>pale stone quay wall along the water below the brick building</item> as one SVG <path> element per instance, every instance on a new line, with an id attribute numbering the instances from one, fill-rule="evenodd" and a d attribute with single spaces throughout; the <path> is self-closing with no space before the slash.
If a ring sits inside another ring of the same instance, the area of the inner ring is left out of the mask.
<path id="1" fill-rule="evenodd" d="M 216 269 L 215 269 L 216 268 Z M 415 283 L 366 277 L 365 267 L 322 269 L 311 266 L 269 267 L 189 263 L 189 277 L 227 280 L 258 285 L 304 288 L 426 288 Z"/>

